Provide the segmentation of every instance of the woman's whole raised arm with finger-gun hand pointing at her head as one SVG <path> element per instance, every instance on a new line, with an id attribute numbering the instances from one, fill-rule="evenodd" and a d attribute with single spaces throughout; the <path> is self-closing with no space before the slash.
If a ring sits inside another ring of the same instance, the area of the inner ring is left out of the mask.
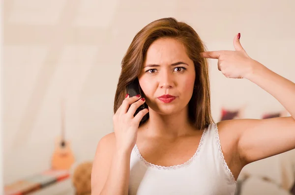
<path id="1" fill-rule="evenodd" d="M 236 119 L 219 122 L 228 135 L 236 135 L 236 147 L 244 165 L 295 149 L 295 84 L 247 55 L 234 39 L 236 51 L 202 53 L 218 59 L 218 69 L 227 78 L 245 78 L 276 98 L 291 117 Z"/>

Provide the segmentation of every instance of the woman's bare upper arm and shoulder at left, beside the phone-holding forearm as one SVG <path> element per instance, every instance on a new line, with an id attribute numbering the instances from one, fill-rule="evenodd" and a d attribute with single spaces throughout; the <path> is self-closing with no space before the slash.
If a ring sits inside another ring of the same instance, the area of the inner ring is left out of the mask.
<path id="1" fill-rule="evenodd" d="M 109 133 L 98 141 L 91 171 L 92 191 L 100 192 L 104 186 L 109 174 L 115 148 L 115 133 Z"/>

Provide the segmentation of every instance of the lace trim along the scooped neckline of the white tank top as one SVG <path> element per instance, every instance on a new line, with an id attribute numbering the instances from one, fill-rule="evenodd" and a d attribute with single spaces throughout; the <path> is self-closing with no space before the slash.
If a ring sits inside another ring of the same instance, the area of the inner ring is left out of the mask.
<path id="1" fill-rule="evenodd" d="M 185 163 L 183 164 L 180 164 L 180 165 L 174 165 L 174 166 L 170 166 L 170 167 L 165 167 L 165 166 L 159 166 L 159 165 L 154 165 L 154 164 L 151 164 L 149 162 L 147 162 L 144 157 L 140 154 L 139 152 L 139 149 L 137 147 L 137 144 L 135 144 L 134 146 L 134 151 L 135 153 L 137 154 L 137 156 L 140 158 L 140 160 L 148 167 L 152 167 L 152 168 L 157 168 L 159 170 L 173 170 L 173 169 L 178 169 L 178 168 L 182 168 L 182 167 L 186 167 L 188 165 L 190 165 L 194 158 L 198 155 L 198 153 L 200 152 L 200 149 L 201 149 L 201 146 L 203 145 L 203 142 L 204 142 L 204 138 L 205 138 L 205 134 L 207 132 L 207 128 L 204 129 L 203 133 L 202 133 L 202 137 L 201 137 L 201 140 L 200 140 L 200 143 L 199 143 L 199 146 L 198 146 L 198 149 L 197 151 L 195 152 L 195 154 L 188 160 L 186 161 Z"/>

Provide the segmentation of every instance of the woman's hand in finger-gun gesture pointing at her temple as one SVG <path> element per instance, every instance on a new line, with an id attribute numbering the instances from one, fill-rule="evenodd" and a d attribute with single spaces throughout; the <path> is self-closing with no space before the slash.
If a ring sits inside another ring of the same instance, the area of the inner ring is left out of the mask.
<path id="1" fill-rule="evenodd" d="M 234 38 L 236 51 L 203 52 L 202 57 L 218 59 L 218 70 L 227 78 L 242 79 L 252 74 L 255 66 L 262 65 L 249 57 L 239 41 L 240 33 Z"/>

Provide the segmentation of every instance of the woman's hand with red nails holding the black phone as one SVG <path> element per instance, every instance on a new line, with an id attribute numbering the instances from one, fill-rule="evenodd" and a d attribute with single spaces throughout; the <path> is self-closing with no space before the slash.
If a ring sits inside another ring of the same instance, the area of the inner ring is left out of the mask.
<path id="1" fill-rule="evenodd" d="M 118 150 L 131 152 L 134 147 L 139 123 L 144 115 L 148 113 L 148 109 L 139 111 L 135 116 L 134 113 L 145 101 L 145 98 L 140 99 L 140 95 L 129 97 L 127 94 L 114 114 L 113 123 Z"/>

